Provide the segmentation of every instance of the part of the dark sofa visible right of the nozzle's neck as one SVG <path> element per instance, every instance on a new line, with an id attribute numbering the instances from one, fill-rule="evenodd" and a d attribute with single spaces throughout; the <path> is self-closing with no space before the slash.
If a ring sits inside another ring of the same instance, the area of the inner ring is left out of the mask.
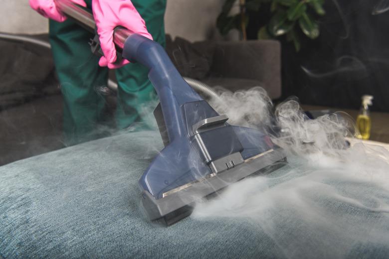
<path id="1" fill-rule="evenodd" d="M 167 39 L 167 52 L 183 76 L 229 91 L 263 87 L 281 97 L 281 46 L 276 40 L 202 41 Z"/>

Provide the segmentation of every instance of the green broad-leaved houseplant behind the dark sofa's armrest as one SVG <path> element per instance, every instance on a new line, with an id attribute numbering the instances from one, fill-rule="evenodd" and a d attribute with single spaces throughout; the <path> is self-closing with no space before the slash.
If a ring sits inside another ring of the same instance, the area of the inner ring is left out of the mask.
<path id="1" fill-rule="evenodd" d="M 240 11 L 230 15 L 236 0 L 225 0 L 216 25 L 222 35 L 231 29 L 242 32 L 246 39 L 246 27 L 270 8 L 269 20 L 258 28 L 258 39 L 286 37 L 293 42 L 296 51 L 301 48 L 303 37 L 316 39 L 319 34 L 318 16 L 324 15 L 324 0 L 239 0 Z M 251 15 L 250 15 L 251 14 Z"/>

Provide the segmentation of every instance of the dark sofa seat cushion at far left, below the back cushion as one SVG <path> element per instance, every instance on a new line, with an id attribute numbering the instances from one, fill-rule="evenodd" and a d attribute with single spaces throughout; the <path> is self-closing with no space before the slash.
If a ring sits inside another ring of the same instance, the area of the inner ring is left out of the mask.
<path id="1" fill-rule="evenodd" d="M 0 165 L 62 148 L 62 96 L 0 110 L 0 125 Z"/>

